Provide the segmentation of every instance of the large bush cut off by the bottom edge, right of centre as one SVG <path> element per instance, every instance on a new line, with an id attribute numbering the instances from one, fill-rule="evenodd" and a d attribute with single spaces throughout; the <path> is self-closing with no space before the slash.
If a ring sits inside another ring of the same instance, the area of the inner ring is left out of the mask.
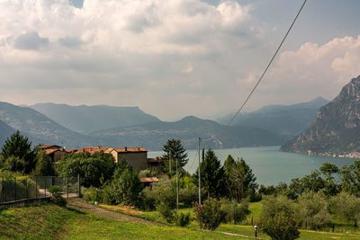
<path id="1" fill-rule="evenodd" d="M 284 212 L 276 213 L 273 217 L 261 217 L 258 227 L 272 239 L 290 240 L 300 236 L 299 221 Z"/>

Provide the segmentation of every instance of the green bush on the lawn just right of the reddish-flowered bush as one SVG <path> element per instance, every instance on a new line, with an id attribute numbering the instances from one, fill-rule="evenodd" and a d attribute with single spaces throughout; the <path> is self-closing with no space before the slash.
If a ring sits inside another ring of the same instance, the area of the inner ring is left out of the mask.
<path id="1" fill-rule="evenodd" d="M 231 223 L 234 221 L 234 224 L 239 224 L 247 218 L 247 215 L 250 213 L 248 210 L 248 201 L 243 200 L 240 204 L 237 200 L 225 201 L 222 207 L 225 217 L 223 219 L 224 223 Z"/>

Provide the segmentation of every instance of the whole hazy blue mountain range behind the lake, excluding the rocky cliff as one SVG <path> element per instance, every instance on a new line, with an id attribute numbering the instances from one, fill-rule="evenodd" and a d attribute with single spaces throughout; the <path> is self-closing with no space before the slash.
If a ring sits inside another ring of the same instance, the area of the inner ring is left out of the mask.
<path id="1" fill-rule="evenodd" d="M 0 102 L 0 141 L 4 142 L 4 138 L 18 129 L 33 145 L 56 144 L 77 149 L 127 146 L 160 150 L 168 138 L 180 138 L 184 147 L 194 149 L 199 137 L 204 140 L 202 147 L 275 146 L 283 144 L 293 132 L 305 129 L 305 123 L 299 122 L 314 119 L 316 115 L 312 109 L 323 102 L 327 101 L 318 98 L 289 106 L 266 106 L 240 116 L 237 125 L 229 127 L 192 116 L 174 122 L 161 121 L 138 107 L 55 103 L 20 107 Z M 298 120 L 296 128 L 284 123 L 293 115 L 302 119 Z"/>

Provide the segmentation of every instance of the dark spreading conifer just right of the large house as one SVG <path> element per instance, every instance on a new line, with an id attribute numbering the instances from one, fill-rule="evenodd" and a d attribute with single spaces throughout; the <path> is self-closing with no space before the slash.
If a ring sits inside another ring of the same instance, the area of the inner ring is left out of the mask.
<path id="1" fill-rule="evenodd" d="M 164 155 L 162 158 L 171 159 L 173 162 L 171 164 L 171 171 L 175 171 L 176 161 L 177 167 L 180 168 L 181 172 L 184 172 L 184 165 L 187 164 L 189 159 L 187 158 L 186 150 L 181 144 L 180 139 L 168 139 L 166 144 L 163 146 Z M 168 171 L 168 165 L 165 171 Z"/>

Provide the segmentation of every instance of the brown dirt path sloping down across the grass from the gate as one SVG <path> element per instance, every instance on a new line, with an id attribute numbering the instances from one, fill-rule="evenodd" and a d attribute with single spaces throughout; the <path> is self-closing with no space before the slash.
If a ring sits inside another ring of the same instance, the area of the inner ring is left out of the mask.
<path id="1" fill-rule="evenodd" d="M 164 226 L 162 224 L 151 222 L 148 220 L 145 220 L 143 218 L 136 218 L 128 215 L 121 214 L 119 212 L 110 211 L 107 209 L 99 208 L 93 204 L 90 204 L 86 202 L 85 200 L 79 199 L 79 198 L 72 198 L 67 200 L 67 207 L 71 209 L 76 209 L 85 213 L 90 213 L 95 216 L 100 216 L 103 218 L 112 218 L 117 219 L 121 221 L 126 222 L 132 222 L 132 223 L 141 223 L 141 224 L 147 224 L 151 226 Z"/>

